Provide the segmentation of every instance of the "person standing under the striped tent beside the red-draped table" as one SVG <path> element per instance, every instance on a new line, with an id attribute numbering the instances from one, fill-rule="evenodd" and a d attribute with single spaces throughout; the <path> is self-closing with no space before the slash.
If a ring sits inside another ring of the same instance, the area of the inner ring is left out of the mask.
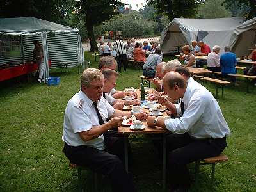
<path id="1" fill-rule="evenodd" d="M 43 53 L 43 47 L 40 45 L 38 40 L 33 40 L 33 44 L 35 45 L 34 51 L 33 51 L 33 60 L 38 64 L 39 68 L 39 77 L 38 82 L 41 83 L 44 76 L 44 53 Z"/>

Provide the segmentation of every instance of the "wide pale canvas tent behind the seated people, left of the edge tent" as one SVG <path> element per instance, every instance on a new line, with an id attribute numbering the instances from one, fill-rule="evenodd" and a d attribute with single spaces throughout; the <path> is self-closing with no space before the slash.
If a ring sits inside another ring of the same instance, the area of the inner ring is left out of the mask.
<path id="1" fill-rule="evenodd" d="M 163 29 L 161 49 L 164 54 L 172 52 L 175 46 L 189 44 L 193 40 L 203 40 L 211 48 L 230 44 L 234 29 L 244 21 L 243 17 L 218 19 L 175 18 Z M 223 52 L 223 49 L 221 50 Z"/>

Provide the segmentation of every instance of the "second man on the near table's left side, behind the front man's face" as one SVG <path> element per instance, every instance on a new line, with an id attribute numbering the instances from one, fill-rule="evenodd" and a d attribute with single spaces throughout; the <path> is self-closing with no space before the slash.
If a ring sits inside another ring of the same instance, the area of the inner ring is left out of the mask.
<path id="1" fill-rule="evenodd" d="M 111 96 L 109 93 L 112 88 L 114 88 L 116 84 L 116 79 L 118 77 L 118 72 L 111 69 L 104 69 L 102 70 L 102 74 L 104 76 L 104 86 L 103 86 L 103 97 L 108 101 L 108 103 L 113 106 L 114 109 L 122 110 L 124 105 L 138 105 L 140 104 L 140 100 L 134 99 L 134 100 L 122 100 L 122 99 L 115 99 Z"/>

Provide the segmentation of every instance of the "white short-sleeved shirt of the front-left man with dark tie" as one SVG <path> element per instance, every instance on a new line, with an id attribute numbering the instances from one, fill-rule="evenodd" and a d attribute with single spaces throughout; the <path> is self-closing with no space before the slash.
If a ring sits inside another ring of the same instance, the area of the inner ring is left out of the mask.
<path id="1" fill-rule="evenodd" d="M 97 101 L 97 107 L 104 122 L 115 111 L 104 97 Z M 104 150 L 103 135 L 90 141 L 83 141 L 79 136 L 79 132 L 88 131 L 93 129 L 93 126 L 99 125 L 99 119 L 92 100 L 80 91 L 68 101 L 65 109 L 62 140 L 70 146 L 87 145 Z"/>

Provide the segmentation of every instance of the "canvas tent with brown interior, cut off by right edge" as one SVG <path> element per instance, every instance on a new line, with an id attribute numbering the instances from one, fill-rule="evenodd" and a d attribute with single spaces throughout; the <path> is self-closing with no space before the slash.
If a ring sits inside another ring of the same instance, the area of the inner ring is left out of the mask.
<path id="1" fill-rule="evenodd" d="M 256 44 L 256 17 L 237 26 L 231 36 L 230 46 L 237 56 L 248 56 Z"/>

